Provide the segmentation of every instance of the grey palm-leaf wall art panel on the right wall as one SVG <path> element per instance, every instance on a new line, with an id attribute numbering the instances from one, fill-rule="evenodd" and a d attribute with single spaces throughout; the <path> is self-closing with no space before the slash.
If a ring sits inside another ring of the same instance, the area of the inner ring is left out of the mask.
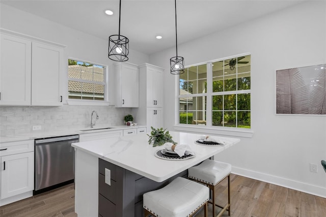
<path id="1" fill-rule="evenodd" d="M 325 64 L 276 71 L 276 114 L 326 115 Z"/>

